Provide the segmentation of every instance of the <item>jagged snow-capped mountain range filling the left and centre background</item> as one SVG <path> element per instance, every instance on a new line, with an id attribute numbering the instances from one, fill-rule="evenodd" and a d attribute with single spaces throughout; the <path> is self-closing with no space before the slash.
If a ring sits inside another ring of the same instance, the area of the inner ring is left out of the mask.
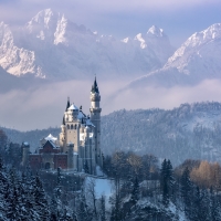
<path id="1" fill-rule="evenodd" d="M 40 11 L 15 30 L 0 23 L 0 66 L 17 76 L 139 76 L 161 67 L 172 52 L 168 36 L 157 27 L 134 39 L 116 40 L 77 25 L 51 9 Z"/>

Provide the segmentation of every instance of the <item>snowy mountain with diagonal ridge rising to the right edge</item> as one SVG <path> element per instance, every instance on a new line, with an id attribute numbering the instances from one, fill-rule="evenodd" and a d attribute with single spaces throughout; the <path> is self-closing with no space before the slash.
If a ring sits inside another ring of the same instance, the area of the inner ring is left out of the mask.
<path id="1" fill-rule="evenodd" d="M 192 34 L 162 69 L 133 81 L 129 87 L 194 85 L 221 78 L 221 23 Z"/>

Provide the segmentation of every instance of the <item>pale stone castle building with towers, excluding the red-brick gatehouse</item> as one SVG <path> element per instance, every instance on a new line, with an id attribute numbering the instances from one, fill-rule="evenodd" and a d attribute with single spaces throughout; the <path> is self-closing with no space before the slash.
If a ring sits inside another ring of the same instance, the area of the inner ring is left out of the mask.
<path id="1" fill-rule="evenodd" d="M 70 99 L 67 99 L 59 141 L 63 152 L 69 150 L 70 144 L 74 145 L 74 169 L 77 169 L 78 171 L 87 165 L 91 173 L 94 173 L 95 166 L 102 166 L 102 108 L 99 107 L 99 102 L 101 95 L 96 77 L 91 90 L 91 117 L 83 113 L 82 106 L 78 108 L 74 104 L 71 105 Z"/>

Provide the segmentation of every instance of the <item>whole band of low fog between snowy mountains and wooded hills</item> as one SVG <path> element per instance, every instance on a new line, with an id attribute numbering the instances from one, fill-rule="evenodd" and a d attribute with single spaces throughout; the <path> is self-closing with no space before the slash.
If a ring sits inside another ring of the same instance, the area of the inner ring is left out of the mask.
<path id="1" fill-rule="evenodd" d="M 122 92 L 119 90 L 125 81 L 99 81 L 98 85 L 103 115 L 123 108 L 171 109 L 182 103 L 221 99 L 220 81 L 204 81 L 193 87 L 146 87 Z M 20 130 L 60 127 L 67 96 L 77 106 L 83 105 L 84 113 L 90 114 L 91 86 L 92 82 L 69 81 L 46 84 L 38 90 L 0 94 L 0 125 Z"/>

